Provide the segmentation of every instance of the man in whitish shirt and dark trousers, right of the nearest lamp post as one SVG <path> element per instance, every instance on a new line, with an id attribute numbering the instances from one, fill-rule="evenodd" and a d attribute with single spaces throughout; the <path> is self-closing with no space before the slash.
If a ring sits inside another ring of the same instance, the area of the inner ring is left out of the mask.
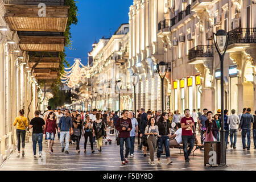
<path id="1" fill-rule="evenodd" d="M 238 126 L 240 125 L 240 119 L 238 115 L 236 115 L 236 110 L 231 110 L 232 115 L 228 117 L 228 124 L 230 126 L 230 147 L 236 149 L 237 143 L 237 133 L 238 133 Z M 233 135 L 234 135 L 234 143 L 233 143 Z"/>

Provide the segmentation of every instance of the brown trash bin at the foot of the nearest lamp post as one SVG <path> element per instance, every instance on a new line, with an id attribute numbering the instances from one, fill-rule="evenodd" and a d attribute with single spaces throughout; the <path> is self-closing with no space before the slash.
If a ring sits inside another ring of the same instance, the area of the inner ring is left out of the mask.
<path id="1" fill-rule="evenodd" d="M 204 166 L 220 165 L 220 142 L 204 142 Z"/>

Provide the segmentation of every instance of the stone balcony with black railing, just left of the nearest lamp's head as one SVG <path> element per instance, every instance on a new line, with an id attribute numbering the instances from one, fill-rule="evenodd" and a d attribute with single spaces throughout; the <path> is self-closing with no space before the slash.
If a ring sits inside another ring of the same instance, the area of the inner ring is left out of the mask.
<path id="1" fill-rule="evenodd" d="M 204 60 L 213 59 L 213 46 L 212 45 L 200 45 L 193 47 L 188 51 L 188 64 L 203 63 Z"/>

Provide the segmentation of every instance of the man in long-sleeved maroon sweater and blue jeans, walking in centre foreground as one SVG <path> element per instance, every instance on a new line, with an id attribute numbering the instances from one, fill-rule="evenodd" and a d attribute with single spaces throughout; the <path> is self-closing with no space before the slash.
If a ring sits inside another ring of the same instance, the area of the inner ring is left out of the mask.
<path id="1" fill-rule="evenodd" d="M 122 164 L 128 163 L 127 157 L 131 148 L 130 131 L 133 128 L 131 119 L 128 118 L 129 111 L 123 110 L 123 117 L 117 120 L 115 128 L 119 131 L 120 156 Z M 123 156 L 123 144 L 125 143 L 125 156 Z"/>

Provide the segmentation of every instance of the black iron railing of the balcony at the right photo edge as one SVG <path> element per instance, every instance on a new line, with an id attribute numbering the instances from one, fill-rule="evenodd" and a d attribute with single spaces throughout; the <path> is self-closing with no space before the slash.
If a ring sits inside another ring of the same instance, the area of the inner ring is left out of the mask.
<path id="1" fill-rule="evenodd" d="M 236 43 L 256 43 L 256 28 L 236 28 L 229 31 L 229 45 Z"/>

